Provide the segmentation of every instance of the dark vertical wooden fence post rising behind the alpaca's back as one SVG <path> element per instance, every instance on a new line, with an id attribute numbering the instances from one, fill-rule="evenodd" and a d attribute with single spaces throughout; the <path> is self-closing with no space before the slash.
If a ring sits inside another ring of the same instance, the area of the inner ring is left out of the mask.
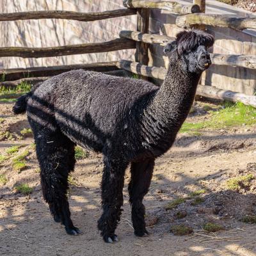
<path id="1" fill-rule="evenodd" d="M 137 31 L 141 33 L 148 33 L 149 25 L 149 9 L 138 9 L 137 11 Z M 135 60 L 143 65 L 148 65 L 148 44 L 143 42 L 136 42 Z M 141 76 L 143 79 L 147 77 Z"/>

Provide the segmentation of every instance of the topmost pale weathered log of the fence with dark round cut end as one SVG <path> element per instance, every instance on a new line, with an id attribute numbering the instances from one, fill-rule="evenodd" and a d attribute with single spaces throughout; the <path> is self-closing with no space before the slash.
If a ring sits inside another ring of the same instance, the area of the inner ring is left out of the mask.
<path id="1" fill-rule="evenodd" d="M 124 0 L 123 3 L 127 8 L 161 9 L 180 14 L 200 12 L 197 4 L 184 5 L 173 1 Z"/>

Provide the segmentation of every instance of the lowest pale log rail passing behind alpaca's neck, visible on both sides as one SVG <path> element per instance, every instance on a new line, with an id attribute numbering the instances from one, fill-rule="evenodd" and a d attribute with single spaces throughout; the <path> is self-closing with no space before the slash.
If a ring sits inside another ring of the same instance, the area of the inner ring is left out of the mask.
<path id="1" fill-rule="evenodd" d="M 134 74 L 153 77 L 163 80 L 166 76 L 166 68 L 148 67 L 141 65 L 138 62 L 132 62 L 127 60 L 121 60 L 116 63 L 118 68 L 122 68 Z M 231 102 L 243 102 L 245 105 L 250 105 L 256 108 L 256 96 L 245 95 L 244 93 L 232 92 L 229 90 L 221 90 L 214 86 L 198 85 L 196 95 L 208 97 L 218 100 L 229 100 Z"/>

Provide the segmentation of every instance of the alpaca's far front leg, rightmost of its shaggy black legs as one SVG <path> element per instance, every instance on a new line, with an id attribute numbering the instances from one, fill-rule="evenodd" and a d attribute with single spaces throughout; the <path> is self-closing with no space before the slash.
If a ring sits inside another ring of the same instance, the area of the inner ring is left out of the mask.
<path id="1" fill-rule="evenodd" d="M 132 224 L 136 236 L 148 234 L 144 220 L 145 207 L 142 200 L 148 193 L 153 169 L 154 159 L 131 164 L 131 181 L 128 189 L 132 206 Z"/>

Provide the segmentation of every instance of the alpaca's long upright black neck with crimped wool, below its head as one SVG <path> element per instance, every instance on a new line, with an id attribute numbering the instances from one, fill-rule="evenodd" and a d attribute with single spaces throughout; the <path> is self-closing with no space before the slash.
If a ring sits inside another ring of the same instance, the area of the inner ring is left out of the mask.
<path id="1" fill-rule="evenodd" d="M 145 108 L 143 128 L 148 149 L 155 156 L 172 146 L 195 98 L 201 74 L 182 72 L 180 63 L 170 63 L 166 78 Z"/>

